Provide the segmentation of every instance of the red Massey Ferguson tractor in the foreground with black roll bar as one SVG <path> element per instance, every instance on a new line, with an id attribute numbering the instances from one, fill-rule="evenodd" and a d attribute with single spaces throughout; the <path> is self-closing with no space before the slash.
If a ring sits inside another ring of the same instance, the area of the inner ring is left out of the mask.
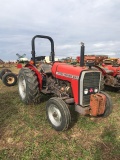
<path id="1" fill-rule="evenodd" d="M 45 38 L 51 43 L 50 64 L 39 66 L 35 61 L 35 39 Z M 80 66 L 54 61 L 54 41 L 49 36 L 32 38 L 32 60 L 18 75 L 18 88 L 25 104 L 40 103 L 41 94 L 51 94 L 46 103 L 46 115 L 57 131 L 67 130 L 71 123 L 69 106 L 82 115 L 106 117 L 112 112 L 108 94 L 100 91 L 101 72 L 91 63 L 84 66 L 84 44 L 81 43 Z"/>

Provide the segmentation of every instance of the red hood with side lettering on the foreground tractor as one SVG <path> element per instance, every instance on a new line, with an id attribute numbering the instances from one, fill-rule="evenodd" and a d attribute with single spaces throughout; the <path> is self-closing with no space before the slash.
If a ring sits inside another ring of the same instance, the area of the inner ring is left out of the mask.
<path id="1" fill-rule="evenodd" d="M 87 67 L 73 66 L 66 63 L 55 62 L 52 66 L 52 74 L 55 78 L 69 80 L 78 79 L 83 70 Z"/>

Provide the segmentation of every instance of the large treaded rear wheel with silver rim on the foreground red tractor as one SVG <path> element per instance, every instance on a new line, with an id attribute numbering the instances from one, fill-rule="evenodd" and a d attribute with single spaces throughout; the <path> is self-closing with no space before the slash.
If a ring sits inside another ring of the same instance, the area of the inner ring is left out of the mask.
<path id="1" fill-rule="evenodd" d="M 40 90 L 35 72 L 22 68 L 18 75 L 18 89 L 21 100 L 25 104 L 39 103 Z"/>

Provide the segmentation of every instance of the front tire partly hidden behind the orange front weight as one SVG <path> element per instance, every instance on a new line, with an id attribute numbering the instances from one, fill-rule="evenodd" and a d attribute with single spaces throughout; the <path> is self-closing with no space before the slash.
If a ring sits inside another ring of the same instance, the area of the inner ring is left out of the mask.
<path id="1" fill-rule="evenodd" d="M 112 104 L 112 100 L 111 100 L 111 97 L 105 93 L 105 92 L 102 92 L 102 94 L 104 94 L 106 96 L 106 105 L 105 105 L 105 112 L 102 114 L 102 117 L 107 117 L 111 114 L 112 112 L 112 109 L 113 109 L 113 104 Z"/>

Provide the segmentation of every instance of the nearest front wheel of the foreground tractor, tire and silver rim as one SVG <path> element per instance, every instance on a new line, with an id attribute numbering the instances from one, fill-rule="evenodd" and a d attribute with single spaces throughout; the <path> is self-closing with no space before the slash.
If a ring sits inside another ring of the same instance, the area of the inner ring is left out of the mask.
<path id="1" fill-rule="evenodd" d="M 60 98 L 50 98 L 46 105 L 47 119 L 56 131 L 69 128 L 71 115 L 67 104 Z"/>

